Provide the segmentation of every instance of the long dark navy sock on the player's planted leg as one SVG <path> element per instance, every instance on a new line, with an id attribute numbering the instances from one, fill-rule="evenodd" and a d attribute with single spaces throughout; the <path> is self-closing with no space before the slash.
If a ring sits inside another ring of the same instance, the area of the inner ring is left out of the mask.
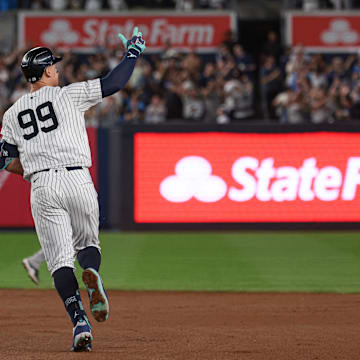
<path id="1" fill-rule="evenodd" d="M 90 325 L 81 302 L 79 284 L 73 269 L 62 267 L 54 272 L 53 278 L 55 288 L 64 302 L 66 312 L 74 326 L 81 319 L 86 320 Z"/>

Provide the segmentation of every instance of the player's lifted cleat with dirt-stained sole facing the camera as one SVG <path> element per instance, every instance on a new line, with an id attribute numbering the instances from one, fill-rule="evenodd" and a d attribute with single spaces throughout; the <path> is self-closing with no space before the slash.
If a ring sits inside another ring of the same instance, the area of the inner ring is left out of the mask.
<path id="1" fill-rule="evenodd" d="M 88 291 L 91 313 L 96 321 L 105 321 L 109 317 L 109 301 L 99 273 L 88 268 L 83 271 L 82 279 Z"/>

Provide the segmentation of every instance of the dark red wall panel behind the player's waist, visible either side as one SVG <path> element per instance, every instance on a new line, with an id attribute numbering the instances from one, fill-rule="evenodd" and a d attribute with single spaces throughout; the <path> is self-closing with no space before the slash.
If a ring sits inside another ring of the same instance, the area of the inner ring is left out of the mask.
<path id="1" fill-rule="evenodd" d="M 97 130 L 88 129 L 93 166 L 90 169 L 97 186 Z M 30 183 L 21 176 L 0 171 L 1 227 L 32 227 Z"/>

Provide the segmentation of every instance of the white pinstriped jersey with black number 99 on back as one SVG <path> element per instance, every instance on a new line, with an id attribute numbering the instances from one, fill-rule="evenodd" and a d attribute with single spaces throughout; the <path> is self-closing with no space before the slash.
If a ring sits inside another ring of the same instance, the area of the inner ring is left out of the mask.
<path id="1" fill-rule="evenodd" d="M 44 86 L 4 114 L 3 140 L 16 145 L 24 178 L 44 169 L 91 167 L 84 113 L 102 100 L 100 79 Z"/>

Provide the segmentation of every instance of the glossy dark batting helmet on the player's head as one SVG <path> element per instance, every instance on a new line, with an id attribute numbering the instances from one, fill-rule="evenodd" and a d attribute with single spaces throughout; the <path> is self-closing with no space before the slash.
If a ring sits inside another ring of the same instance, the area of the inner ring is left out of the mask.
<path id="1" fill-rule="evenodd" d="M 50 49 L 46 47 L 36 47 L 29 50 L 21 61 L 21 70 L 26 81 L 34 83 L 41 79 L 47 66 L 51 66 L 61 61 L 62 57 L 55 57 Z"/>

